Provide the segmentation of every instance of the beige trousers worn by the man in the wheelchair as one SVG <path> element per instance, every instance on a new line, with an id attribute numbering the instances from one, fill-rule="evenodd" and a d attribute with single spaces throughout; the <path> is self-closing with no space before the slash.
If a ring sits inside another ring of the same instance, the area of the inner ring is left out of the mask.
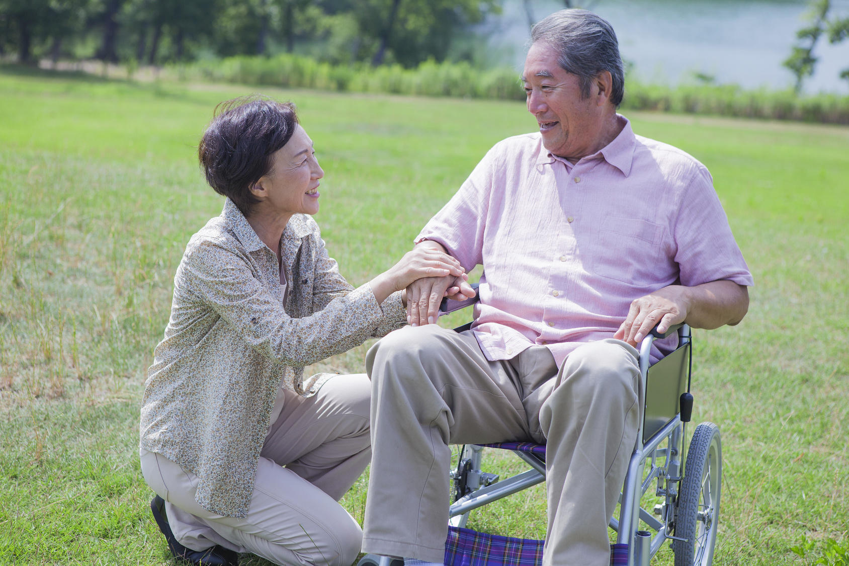
<path id="1" fill-rule="evenodd" d="M 486 359 L 470 332 L 405 327 L 374 345 L 373 456 L 363 552 L 441 562 L 449 444 L 547 443 L 546 566 L 606 566 L 607 524 L 637 436 L 638 352 L 582 345 L 558 368 L 548 348 Z"/>

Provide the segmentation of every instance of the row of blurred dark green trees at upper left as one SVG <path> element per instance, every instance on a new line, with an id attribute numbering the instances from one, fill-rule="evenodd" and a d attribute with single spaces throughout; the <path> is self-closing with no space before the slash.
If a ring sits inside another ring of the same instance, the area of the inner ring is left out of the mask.
<path id="1" fill-rule="evenodd" d="M 498 0 L 0 0 L 0 55 L 159 65 L 210 55 L 310 54 L 404 67 L 446 59 Z"/>

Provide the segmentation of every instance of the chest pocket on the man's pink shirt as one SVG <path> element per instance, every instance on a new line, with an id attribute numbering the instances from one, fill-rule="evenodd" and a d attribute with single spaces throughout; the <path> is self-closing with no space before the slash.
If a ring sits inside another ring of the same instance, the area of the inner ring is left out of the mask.
<path id="1" fill-rule="evenodd" d="M 599 226 L 593 272 L 631 285 L 655 279 L 668 269 L 663 233 L 663 225 L 642 218 L 605 216 Z"/>

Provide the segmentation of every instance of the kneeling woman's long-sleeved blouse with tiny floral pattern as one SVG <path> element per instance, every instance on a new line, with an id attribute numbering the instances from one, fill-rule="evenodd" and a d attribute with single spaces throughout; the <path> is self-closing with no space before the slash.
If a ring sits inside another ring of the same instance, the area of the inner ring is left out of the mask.
<path id="1" fill-rule="evenodd" d="M 312 217 L 295 214 L 277 256 L 229 199 L 192 236 L 174 276 L 171 318 L 148 371 L 140 446 L 200 478 L 195 499 L 245 517 L 278 388 L 312 394 L 305 365 L 407 323 L 401 293 L 378 304 L 329 258 Z"/>

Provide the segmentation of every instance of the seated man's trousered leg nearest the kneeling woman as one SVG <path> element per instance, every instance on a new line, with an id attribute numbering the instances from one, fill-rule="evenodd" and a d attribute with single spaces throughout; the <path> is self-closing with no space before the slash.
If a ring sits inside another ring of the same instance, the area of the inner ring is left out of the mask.
<path id="1" fill-rule="evenodd" d="M 368 351 L 372 466 L 363 551 L 441 563 L 448 444 L 529 437 L 514 381 L 470 332 L 405 327 Z"/>

